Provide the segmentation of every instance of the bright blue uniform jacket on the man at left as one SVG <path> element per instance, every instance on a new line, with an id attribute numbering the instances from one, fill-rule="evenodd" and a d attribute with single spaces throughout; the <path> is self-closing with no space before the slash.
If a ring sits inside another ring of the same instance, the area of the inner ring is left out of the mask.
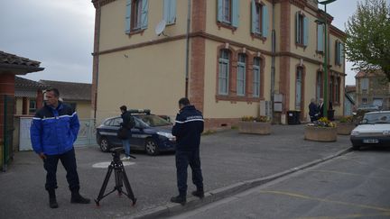
<path id="1" fill-rule="evenodd" d="M 79 133 L 79 117 L 69 105 L 44 105 L 32 118 L 32 149 L 47 155 L 62 154 L 73 148 Z"/>

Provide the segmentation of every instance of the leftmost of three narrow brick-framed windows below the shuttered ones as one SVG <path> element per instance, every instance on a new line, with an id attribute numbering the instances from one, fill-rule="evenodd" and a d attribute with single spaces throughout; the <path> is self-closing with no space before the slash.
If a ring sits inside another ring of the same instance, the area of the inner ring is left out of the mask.
<path id="1" fill-rule="evenodd" d="M 219 72 L 218 72 L 218 94 L 228 95 L 228 78 L 229 78 L 229 50 L 219 51 Z"/>

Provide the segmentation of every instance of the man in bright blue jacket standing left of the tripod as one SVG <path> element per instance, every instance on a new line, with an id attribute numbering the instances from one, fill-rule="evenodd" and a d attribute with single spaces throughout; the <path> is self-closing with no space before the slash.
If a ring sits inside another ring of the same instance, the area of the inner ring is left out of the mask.
<path id="1" fill-rule="evenodd" d="M 70 203 L 88 204 L 90 200 L 79 195 L 79 175 L 73 148 L 79 133 L 79 117 L 69 105 L 59 101 L 58 89 L 46 90 L 45 96 L 45 105 L 32 118 L 30 133 L 33 151 L 43 160 L 47 172 L 45 188 L 49 192 L 49 205 L 51 208 L 58 207 L 55 189 L 59 160 L 67 171 Z"/>

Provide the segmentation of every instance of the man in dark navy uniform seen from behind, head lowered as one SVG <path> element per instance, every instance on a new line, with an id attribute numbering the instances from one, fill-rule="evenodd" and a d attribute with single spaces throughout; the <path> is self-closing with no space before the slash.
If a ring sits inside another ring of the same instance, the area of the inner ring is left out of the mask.
<path id="1" fill-rule="evenodd" d="M 203 116 L 190 105 L 188 98 L 179 100 L 180 114 L 177 114 L 172 134 L 176 136 L 176 174 L 179 196 L 171 201 L 184 205 L 187 196 L 187 168 L 192 169 L 192 182 L 197 187 L 193 196 L 202 198 L 203 178 L 200 169 L 200 134 L 203 132 Z"/>

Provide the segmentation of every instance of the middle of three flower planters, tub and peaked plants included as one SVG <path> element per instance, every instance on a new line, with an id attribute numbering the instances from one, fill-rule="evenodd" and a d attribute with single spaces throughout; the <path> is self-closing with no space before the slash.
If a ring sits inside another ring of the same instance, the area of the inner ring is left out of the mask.
<path id="1" fill-rule="evenodd" d="M 337 125 L 325 117 L 305 126 L 305 140 L 337 141 Z"/>

